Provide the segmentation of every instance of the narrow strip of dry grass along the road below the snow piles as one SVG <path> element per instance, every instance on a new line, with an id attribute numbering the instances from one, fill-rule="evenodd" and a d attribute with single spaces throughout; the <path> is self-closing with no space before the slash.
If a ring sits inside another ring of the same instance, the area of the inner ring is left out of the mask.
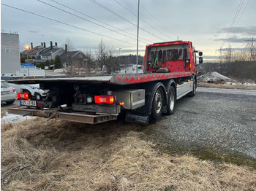
<path id="1" fill-rule="evenodd" d="M 198 87 L 214 87 L 226 89 L 241 89 L 241 90 L 256 90 L 255 85 L 225 85 L 225 84 L 211 84 L 207 82 L 197 82 Z"/>

